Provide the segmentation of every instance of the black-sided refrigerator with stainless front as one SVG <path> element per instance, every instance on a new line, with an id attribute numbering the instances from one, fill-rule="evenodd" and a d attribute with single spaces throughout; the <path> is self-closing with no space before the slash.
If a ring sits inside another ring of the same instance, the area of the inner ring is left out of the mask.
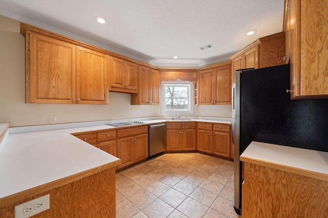
<path id="1" fill-rule="evenodd" d="M 242 163 L 252 141 L 328 152 L 328 99 L 291 100 L 290 65 L 235 71 L 234 208 L 241 214 Z"/>

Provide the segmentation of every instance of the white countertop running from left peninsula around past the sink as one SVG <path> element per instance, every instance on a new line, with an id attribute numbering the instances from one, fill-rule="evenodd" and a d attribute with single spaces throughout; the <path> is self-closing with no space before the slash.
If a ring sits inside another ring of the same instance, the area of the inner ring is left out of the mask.
<path id="1" fill-rule="evenodd" d="M 142 121 L 145 125 L 167 122 L 166 119 Z M 229 118 L 189 121 L 231 124 Z M 120 122 L 125 121 L 111 120 L 111 123 Z M 105 125 L 106 123 L 104 121 L 9 128 L 9 134 L 6 133 L 3 141 L 5 146 L 0 154 L 0 199 L 119 160 L 71 135 L 117 129 Z M 126 127 L 133 126 L 138 125 Z"/>

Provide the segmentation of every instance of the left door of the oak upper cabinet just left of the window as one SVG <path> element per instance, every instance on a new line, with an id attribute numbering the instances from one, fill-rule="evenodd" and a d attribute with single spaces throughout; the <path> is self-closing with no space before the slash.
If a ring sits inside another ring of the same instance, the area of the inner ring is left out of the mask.
<path id="1" fill-rule="evenodd" d="M 150 103 L 150 68 L 139 65 L 139 98 L 140 105 L 149 105 Z"/>

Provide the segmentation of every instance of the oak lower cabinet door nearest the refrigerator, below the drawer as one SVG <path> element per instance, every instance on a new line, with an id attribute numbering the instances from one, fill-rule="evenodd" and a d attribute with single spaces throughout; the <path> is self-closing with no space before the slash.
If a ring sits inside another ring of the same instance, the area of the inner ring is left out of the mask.
<path id="1" fill-rule="evenodd" d="M 214 132 L 213 154 L 230 157 L 230 133 Z"/>

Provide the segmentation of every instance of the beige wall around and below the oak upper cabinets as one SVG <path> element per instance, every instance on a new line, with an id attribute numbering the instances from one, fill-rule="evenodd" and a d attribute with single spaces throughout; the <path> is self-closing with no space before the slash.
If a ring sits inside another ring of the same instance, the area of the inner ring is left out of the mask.
<path id="1" fill-rule="evenodd" d="M 11 127 L 160 116 L 159 106 L 131 105 L 131 94 L 109 92 L 108 105 L 25 104 L 25 38 L 19 21 L 0 15 L 0 123 Z M 229 117 L 231 105 L 195 106 L 194 116 Z"/>

